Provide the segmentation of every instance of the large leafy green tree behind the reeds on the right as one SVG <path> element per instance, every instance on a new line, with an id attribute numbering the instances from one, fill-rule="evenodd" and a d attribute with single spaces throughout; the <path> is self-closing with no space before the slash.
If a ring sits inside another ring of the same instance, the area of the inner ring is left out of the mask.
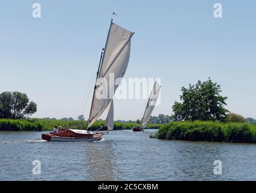
<path id="1" fill-rule="evenodd" d="M 203 83 L 199 80 L 196 84 L 189 84 L 188 88 L 181 88 L 181 103 L 174 102 L 172 109 L 176 118 L 182 115 L 184 120 L 195 121 L 224 121 L 229 111 L 226 106 L 226 96 L 221 96 L 220 85 L 213 83 L 209 78 Z"/>

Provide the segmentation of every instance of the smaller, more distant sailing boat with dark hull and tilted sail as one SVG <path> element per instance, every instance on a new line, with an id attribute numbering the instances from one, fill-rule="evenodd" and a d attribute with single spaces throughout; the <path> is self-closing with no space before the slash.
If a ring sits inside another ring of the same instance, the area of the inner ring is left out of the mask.
<path id="1" fill-rule="evenodd" d="M 151 91 L 149 100 L 147 101 L 147 106 L 141 120 L 141 125 L 138 127 L 133 127 L 132 128 L 133 131 L 144 131 L 144 128 L 147 127 L 147 123 L 149 122 L 150 115 L 153 112 L 153 109 L 156 105 L 156 101 L 158 101 L 160 88 L 161 88 L 160 84 L 158 84 L 158 82 L 155 81 L 153 90 Z"/>

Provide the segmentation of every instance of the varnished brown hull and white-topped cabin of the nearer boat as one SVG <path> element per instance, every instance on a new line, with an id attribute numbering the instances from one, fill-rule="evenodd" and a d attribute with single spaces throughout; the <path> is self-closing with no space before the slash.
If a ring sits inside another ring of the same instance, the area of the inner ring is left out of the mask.
<path id="1" fill-rule="evenodd" d="M 54 142 L 80 142 L 80 141 L 99 141 L 103 133 L 92 133 L 85 130 L 63 130 L 59 133 L 42 134 L 42 139 Z"/>

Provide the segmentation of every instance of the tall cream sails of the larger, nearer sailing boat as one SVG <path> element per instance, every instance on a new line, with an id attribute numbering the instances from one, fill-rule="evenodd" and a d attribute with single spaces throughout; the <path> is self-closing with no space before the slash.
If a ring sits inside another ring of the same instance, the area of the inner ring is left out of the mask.
<path id="1" fill-rule="evenodd" d="M 113 96 L 126 72 L 130 57 L 130 40 L 134 33 L 110 23 L 104 48 L 103 60 L 99 66 L 92 98 L 88 128 L 94 124 L 109 106 L 105 125 L 113 128 Z M 118 82 L 116 81 L 118 79 Z M 110 120 L 112 119 L 112 121 Z M 112 123 L 111 123 L 112 122 Z"/>

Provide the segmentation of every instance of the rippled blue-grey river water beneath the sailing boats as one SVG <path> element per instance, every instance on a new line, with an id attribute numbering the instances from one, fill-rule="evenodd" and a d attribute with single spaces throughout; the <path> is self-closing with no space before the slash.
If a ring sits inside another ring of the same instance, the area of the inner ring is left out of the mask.
<path id="1" fill-rule="evenodd" d="M 0 180 L 256 180 L 255 144 L 164 141 L 132 130 L 45 142 L 42 133 L 0 131 Z"/>

